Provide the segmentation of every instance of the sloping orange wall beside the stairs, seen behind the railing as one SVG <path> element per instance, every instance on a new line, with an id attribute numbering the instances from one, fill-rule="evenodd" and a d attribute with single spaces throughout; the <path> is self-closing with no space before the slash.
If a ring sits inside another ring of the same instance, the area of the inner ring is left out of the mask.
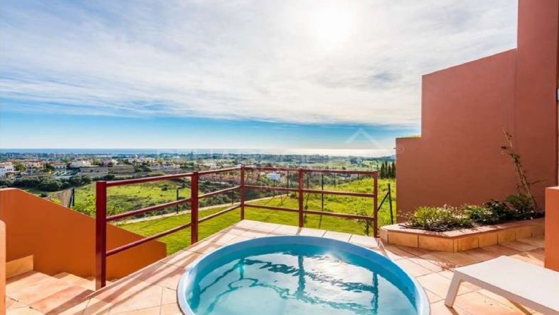
<path id="1" fill-rule="evenodd" d="M 0 220 L 6 223 L 7 260 L 34 256 L 35 270 L 89 277 L 95 269 L 95 219 L 23 190 L 0 189 Z M 107 247 L 142 236 L 108 225 Z M 108 258 L 108 278 L 120 278 L 166 256 L 159 241 Z"/>

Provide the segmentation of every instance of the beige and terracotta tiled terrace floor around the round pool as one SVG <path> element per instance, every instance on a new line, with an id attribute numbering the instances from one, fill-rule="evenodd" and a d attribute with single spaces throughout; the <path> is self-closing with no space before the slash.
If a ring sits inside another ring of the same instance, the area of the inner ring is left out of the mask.
<path id="1" fill-rule="evenodd" d="M 418 250 L 417 248 L 384 246 L 367 236 L 299 229 L 298 227 L 244 220 L 224 231 L 185 248 L 154 265 L 129 275 L 62 314 L 181 314 L 177 304 L 176 287 L 180 276 L 196 258 L 216 248 L 238 241 L 267 235 L 309 235 L 329 237 L 366 246 L 386 255 L 408 270 L 424 287 L 431 302 L 433 315 L 526 314 L 506 299 L 479 287 L 464 283 L 456 298 L 454 309 L 444 306 L 443 298 L 450 285 L 451 268 L 478 263 L 507 255 L 543 265 L 543 238 L 522 239 L 507 244 L 476 248 L 460 253 Z M 511 275 L 514 276 L 514 275 Z M 26 314 L 26 313 L 11 313 Z M 38 313 L 28 313 L 38 314 Z"/>

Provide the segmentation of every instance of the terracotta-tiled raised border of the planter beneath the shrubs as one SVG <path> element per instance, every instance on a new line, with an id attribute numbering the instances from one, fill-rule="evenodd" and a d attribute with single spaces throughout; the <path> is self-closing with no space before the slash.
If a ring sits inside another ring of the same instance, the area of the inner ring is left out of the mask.
<path id="1" fill-rule="evenodd" d="M 409 229 L 401 224 L 392 224 L 381 227 L 381 240 L 384 244 L 456 252 L 541 236 L 543 233 L 543 218 L 444 232 Z"/>

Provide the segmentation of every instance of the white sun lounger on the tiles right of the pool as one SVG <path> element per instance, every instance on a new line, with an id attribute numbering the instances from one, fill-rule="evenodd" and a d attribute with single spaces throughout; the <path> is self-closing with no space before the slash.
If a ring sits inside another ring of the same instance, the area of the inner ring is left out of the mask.
<path id="1" fill-rule="evenodd" d="M 447 307 L 454 304 L 462 281 L 499 294 L 521 309 L 524 305 L 543 314 L 559 315 L 559 273 L 556 271 L 507 256 L 456 268 L 444 301 Z"/>

